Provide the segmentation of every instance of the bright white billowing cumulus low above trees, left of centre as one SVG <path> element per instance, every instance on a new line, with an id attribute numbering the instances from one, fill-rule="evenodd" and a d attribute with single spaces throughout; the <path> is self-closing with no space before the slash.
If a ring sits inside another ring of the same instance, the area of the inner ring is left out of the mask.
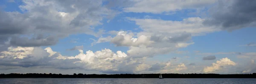
<path id="1" fill-rule="evenodd" d="M 59 55 L 57 59 L 72 60 L 79 59 L 80 68 L 86 70 L 97 70 L 102 73 L 136 73 L 136 66 L 140 65 L 142 59 L 131 59 L 122 51 L 114 53 L 110 49 L 102 49 L 101 51 L 79 50 L 80 54 L 76 56 Z M 81 64 L 81 65 L 80 65 Z"/>

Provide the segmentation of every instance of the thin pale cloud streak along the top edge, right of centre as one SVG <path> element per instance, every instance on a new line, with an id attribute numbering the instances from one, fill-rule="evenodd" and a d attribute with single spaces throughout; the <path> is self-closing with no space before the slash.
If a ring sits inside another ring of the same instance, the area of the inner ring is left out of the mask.
<path id="1" fill-rule="evenodd" d="M 215 0 L 198 0 L 197 2 L 193 2 L 192 0 L 134 0 L 133 5 L 123 8 L 123 11 L 161 14 L 163 12 L 169 13 L 182 9 L 200 9 L 212 3 L 215 3 Z"/>

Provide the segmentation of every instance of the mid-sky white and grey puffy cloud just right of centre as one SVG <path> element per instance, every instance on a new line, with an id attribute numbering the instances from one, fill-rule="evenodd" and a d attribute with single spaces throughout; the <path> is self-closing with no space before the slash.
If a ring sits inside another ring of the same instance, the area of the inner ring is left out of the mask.
<path id="1" fill-rule="evenodd" d="M 119 31 L 113 37 L 111 43 L 116 46 L 128 46 L 127 54 L 131 57 L 153 57 L 158 54 L 167 54 L 178 48 L 183 48 L 194 43 L 189 41 L 190 34 L 182 33 L 178 35 L 156 35 L 154 33 L 131 33 Z"/>

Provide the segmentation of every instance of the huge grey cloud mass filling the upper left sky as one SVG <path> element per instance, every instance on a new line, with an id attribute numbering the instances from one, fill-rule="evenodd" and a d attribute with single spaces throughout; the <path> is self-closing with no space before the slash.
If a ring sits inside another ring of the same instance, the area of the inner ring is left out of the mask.
<path id="1" fill-rule="evenodd" d="M 50 46 L 77 33 L 99 37 L 104 30 L 94 32 L 93 27 L 101 25 L 102 19 L 118 14 L 102 6 L 101 0 L 22 0 L 22 3 L 19 8 L 23 13 L 0 11 L 0 45 L 10 40 L 8 46 Z"/>

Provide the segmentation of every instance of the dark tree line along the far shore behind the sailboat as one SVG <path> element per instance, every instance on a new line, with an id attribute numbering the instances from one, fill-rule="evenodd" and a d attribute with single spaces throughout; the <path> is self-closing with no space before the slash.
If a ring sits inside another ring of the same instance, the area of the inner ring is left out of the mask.
<path id="1" fill-rule="evenodd" d="M 0 78 L 159 78 L 160 74 L 76 74 L 63 75 L 52 73 L 10 73 L 0 74 Z M 256 78 L 256 73 L 253 74 L 203 74 L 203 73 L 190 73 L 190 74 L 176 74 L 165 73 L 162 74 L 163 78 Z"/>

